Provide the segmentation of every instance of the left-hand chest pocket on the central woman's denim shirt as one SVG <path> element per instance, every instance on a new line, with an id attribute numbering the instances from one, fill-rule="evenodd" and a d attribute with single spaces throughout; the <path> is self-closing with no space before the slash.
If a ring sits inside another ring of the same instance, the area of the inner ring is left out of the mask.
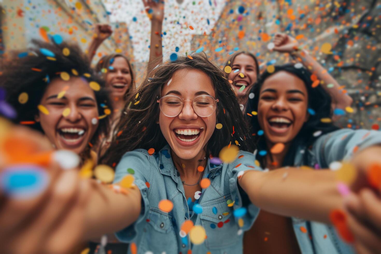
<path id="1" fill-rule="evenodd" d="M 138 246 L 139 253 L 146 251 L 171 253 L 174 249 L 177 250 L 176 235 L 168 212 L 151 207 L 145 223 L 142 239 Z"/>

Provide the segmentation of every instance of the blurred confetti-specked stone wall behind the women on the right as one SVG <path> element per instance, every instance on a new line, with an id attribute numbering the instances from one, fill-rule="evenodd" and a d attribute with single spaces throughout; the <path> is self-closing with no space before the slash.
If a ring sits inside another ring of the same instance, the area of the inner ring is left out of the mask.
<path id="1" fill-rule="evenodd" d="M 290 61 L 270 52 L 276 32 L 298 38 L 349 93 L 353 113 L 336 123 L 349 128 L 378 128 L 381 121 L 381 0 L 227 0 L 210 35 L 195 36 L 192 50 L 204 47 L 220 67 L 235 51 L 254 53 L 261 70 Z M 322 45 L 329 43 L 330 53 Z M 222 48 L 222 50 L 221 50 Z"/>

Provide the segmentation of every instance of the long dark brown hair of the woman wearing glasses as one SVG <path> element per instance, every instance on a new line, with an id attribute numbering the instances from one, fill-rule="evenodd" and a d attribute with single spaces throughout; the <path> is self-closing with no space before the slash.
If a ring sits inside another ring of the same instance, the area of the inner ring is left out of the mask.
<path id="1" fill-rule="evenodd" d="M 154 148 L 158 151 L 168 144 L 156 123 L 160 113 L 157 100 L 161 97 L 163 85 L 171 79 L 173 73 L 186 68 L 206 73 L 215 88 L 216 98 L 219 99 L 216 121 L 221 123 L 223 128 L 213 132 L 207 144 L 207 154 L 217 157 L 224 146 L 229 145 L 229 142 L 235 144 L 236 140 L 241 150 L 249 150 L 247 124 L 243 120 L 237 97 L 224 78 L 224 73 L 210 62 L 205 54 L 194 54 L 191 58 L 179 57 L 176 61 L 158 66 L 154 73 L 149 74 L 153 76 L 146 78 L 139 86 L 136 95 L 129 98 L 130 109 L 126 115 L 122 115 L 117 127 L 121 131 L 104 157 L 107 164 L 118 163 L 125 152 L 134 149 Z"/>

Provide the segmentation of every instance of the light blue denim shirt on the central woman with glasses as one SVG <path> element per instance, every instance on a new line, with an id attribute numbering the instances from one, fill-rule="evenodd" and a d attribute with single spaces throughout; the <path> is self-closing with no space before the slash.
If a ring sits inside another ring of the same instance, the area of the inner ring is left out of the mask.
<path id="1" fill-rule="evenodd" d="M 114 182 L 121 181 L 128 174 L 127 169 L 134 170 L 134 183 L 142 196 L 142 212 L 134 224 L 116 233 L 117 238 L 122 242 L 135 243 L 138 253 L 165 251 L 166 254 L 185 254 L 190 249 L 192 253 L 242 253 L 242 232 L 251 227 L 259 208 L 239 190 L 237 174 L 250 169 L 261 170 L 254 164 L 254 155 L 240 151 L 234 162 L 221 165 L 213 165 L 208 159 L 203 178 L 210 179 L 210 186 L 202 189 L 198 200 L 202 213 L 196 214 L 189 211 L 191 202 L 186 199 L 170 154 L 170 147 L 166 145 L 154 155 L 143 149 L 123 155 L 117 165 Z M 163 199 L 173 202 L 173 210 L 169 213 L 158 209 L 158 203 Z M 234 205 L 229 207 L 227 201 L 234 201 Z M 242 207 L 247 208 L 247 212 L 242 217 L 243 227 L 240 227 L 233 211 Z M 179 235 L 182 223 L 189 219 L 194 225 L 205 228 L 207 238 L 202 244 L 192 244 L 189 235 L 184 238 Z"/>

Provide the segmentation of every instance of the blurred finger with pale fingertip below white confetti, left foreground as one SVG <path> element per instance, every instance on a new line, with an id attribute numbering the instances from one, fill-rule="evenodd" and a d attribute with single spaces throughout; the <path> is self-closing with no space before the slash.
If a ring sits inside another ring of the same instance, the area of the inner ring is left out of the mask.
<path id="1" fill-rule="evenodd" d="M 70 205 L 77 195 L 78 178 L 78 173 L 75 170 L 62 173 L 42 211 L 21 234 L 18 233 L 20 230 L 16 232 L 28 248 L 24 249 L 23 246 L 20 246 L 18 253 L 26 253 L 30 250 L 40 251 L 46 238 L 50 237 L 52 227 L 55 227 L 57 221 L 70 212 Z"/>

